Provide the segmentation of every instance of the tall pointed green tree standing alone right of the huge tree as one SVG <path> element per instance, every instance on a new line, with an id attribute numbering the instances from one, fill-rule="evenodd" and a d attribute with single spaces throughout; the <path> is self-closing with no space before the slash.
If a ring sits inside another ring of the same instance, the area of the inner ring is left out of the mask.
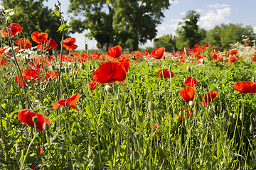
<path id="1" fill-rule="evenodd" d="M 196 11 L 188 11 L 182 18 L 183 22 L 178 23 L 177 36 L 174 38 L 178 49 L 181 50 L 187 46 L 193 47 L 206 38 L 206 30 L 198 28 L 199 18 L 200 14 Z"/>

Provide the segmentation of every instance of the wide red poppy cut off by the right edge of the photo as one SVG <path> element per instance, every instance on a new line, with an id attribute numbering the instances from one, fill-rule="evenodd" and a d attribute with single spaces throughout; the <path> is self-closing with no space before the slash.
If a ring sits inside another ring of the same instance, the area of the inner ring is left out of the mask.
<path id="1" fill-rule="evenodd" d="M 234 89 L 241 94 L 255 94 L 256 84 L 252 81 L 238 81 L 234 84 Z"/>

